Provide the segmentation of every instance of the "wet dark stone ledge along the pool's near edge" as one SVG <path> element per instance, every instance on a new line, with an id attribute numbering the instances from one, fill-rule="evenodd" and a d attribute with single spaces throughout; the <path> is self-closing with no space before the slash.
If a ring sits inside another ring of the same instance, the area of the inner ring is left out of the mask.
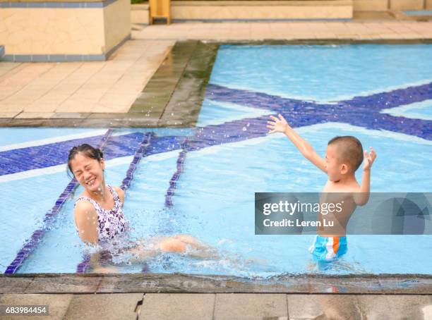
<path id="1" fill-rule="evenodd" d="M 23 282 L 25 281 L 25 282 Z M 30 284 L 29 284 L 30 282 Z M 13 284 L 16 283 L 20 290 Z M 432 275 L 322 274 L 268 278 L 185 273 L 0 275 L 2 293 L 342 293 L 431 295 Z"/>

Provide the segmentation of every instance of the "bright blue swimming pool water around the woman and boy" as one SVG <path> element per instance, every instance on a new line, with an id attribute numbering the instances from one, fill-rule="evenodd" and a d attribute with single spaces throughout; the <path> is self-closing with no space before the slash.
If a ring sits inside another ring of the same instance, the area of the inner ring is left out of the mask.
<path id="1" fill-rule="evenodd" d="M 430 235 L 352 235 L 347 256 L 319 271 L 309 268 L 312 236 L 254 235 L 253 214 L 254 192 L 318 192 L 325 183 L 286 138 L 265 134 L 268 115 L 277 112 L 320 154 L 335 135 L 372 145 L 378 152 L 373 191 L 430 192 L 431 59 L 426 44 L 221 46 L 196 128 L 116 129 L 104 149 L 106 179 L 121 185 L 145 133 L 153 133 L 127 192 L 131 238 L 187 233 L 222 257 L 160 254 L 144 268 L 120 256 L 116 268 L 236 276 L 431 274 L 432 258 L 424 254 Z M 68 149 L 98 144 L 107 130 L 0 130 L 4 272 L 68 185 Z M 88 251 L 72 219 L 80 192 L 66 199 L 18 273 L 76 272 L 83 265 Z M 379 259 L 383 252 L 386 259 Z"/>

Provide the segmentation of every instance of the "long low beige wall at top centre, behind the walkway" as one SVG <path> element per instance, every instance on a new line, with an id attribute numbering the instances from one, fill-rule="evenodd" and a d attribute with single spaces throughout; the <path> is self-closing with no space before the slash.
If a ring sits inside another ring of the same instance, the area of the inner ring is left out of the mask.
<path id="1" fill-rule="evenodd" d="M 352 0 L 172 1 L 174 21 L 351 19 Z"/>

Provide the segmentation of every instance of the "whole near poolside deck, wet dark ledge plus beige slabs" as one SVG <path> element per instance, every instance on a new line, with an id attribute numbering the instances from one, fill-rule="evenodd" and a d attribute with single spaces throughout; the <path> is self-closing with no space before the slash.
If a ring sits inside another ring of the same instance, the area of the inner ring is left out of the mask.
<path id="1" fill-rule="evenodd" d="M 28 274 L 0 276 L 0 305 L 5 304 L 48 304 L 50 316 L 40 319 L 420 320 L 432 319 L 432 279 Z"/>

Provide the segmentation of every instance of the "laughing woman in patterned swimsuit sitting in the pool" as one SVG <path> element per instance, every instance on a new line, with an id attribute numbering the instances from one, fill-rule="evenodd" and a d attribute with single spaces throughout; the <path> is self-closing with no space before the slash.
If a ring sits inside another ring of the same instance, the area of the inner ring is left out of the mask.
<path id="1" fill-rule="evenodd" d="M 124 191 L 105 183 L 104 158 L 100 149 L 89 144 L 73 147 L 68 155 L 68 170 L 73 173 L 84 192 L 75 203 L 74 220 L 81 240 L 92 245 L 112 242 L 128 229 L 123 213 Z M 126 249 L 136 259 L 157 251 L 188 252 L 208 256 L 211 248 L 190 235 L 154 238 Z M 204 253 L 204 254 L 200 254 Z"/>

